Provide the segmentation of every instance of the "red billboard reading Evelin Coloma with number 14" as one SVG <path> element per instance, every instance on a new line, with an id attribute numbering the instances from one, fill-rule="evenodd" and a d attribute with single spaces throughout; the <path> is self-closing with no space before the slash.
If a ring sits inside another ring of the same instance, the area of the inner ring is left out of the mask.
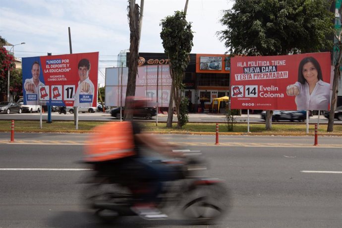
<path id="1" fill-rule="evenodd" d="M 231 58 L 231 108 L 328 110 L 330 53 Z"/>

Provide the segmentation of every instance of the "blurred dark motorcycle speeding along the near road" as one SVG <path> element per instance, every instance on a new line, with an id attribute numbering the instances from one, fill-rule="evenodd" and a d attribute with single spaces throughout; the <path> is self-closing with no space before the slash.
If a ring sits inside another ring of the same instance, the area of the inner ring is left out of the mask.
<path id="1" fill-rule="evenodd" d="M 171 214 L 191 224 L 212 223 L 228 212 L 228 188 L 220 179 L 199 175 L 206 166 L 197 158 L 198 151 L 182 153 L 184 156 L 179 160 L 151 160 L 171 166 L 178 176 L 176 180 L 163 182 L 157 208 L 169 218 Z M 137 216 L 132 206 L 139 202 L 137 192 L 146 190 L 144 184 L 119 176 L 117 172 L 108 174 L 96 166 L 93 168 L 94 173 L 86 181 L 89 186 L 83 191 L 86 208 L 106 223 L 122 216 Z"/>

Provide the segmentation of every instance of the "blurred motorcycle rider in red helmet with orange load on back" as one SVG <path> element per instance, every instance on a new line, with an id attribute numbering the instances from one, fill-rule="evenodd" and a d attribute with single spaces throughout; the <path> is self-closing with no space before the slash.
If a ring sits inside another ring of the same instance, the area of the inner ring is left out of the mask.
<path id="1" fill-rule="evenodd" d="M 145 97 L 127 97 L 125 102 L 129 109 L 125 112 L 139 112 L 149 101 Z M 135 121 L 109 122 L 94 130 L 98 133 L 92 136 L 92 143 L 86 149 L 86 161 L 94 164 L 96 170 L 120 173 L 126 180 L 138 183 L 138 188 L 131 188 L 140 199 L 131 207 L 132 211 L 144 219 L 166 219 L 167 215 L 156 208 L 157 196 L 161 193 L 162 182 L 177 176 L 170 167 L 146 159 L 143 148 L 169 157 L 181 154 L 173 153 L 171 145 L 154 135 L 144 133 Z"/>

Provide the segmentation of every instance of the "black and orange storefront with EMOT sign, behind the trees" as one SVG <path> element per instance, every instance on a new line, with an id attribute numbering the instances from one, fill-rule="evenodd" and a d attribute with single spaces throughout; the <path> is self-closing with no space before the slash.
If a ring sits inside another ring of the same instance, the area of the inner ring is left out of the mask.
<path id="1" fill-rule="evenodd" d="M 129 53 L 127 61 L 128 56 Z M 139 53 L 139 66 L 169 63 L 164 53 Z M 229 96 L 229 73 L 230 58 L 227 55 L 190 54 L 190 62 L 183 76 L 184 95 L 192 104 L 189 111 L 211 112 L 213 99 Z M 225 103 L 221 108 L 224 106 Z"/>

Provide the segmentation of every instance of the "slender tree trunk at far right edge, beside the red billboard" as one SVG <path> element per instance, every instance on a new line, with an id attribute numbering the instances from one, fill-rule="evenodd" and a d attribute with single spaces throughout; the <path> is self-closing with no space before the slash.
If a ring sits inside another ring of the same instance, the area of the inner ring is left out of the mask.
<path id="1" fill-rule="evenodd" d="M 341 6 L 341 0 L 337 1 L 336 6 L 333 2 L 333 8 L 338 9 L 338 15 L 335 17 L 335 38 L 336 43 L 334 44 L 334 79 L 333 79 L 333 92 L 331 97 L 331 103 L 330 103 L 330 114 L 329 114 L 329 120 L 328 120 L 328 126 L 327 131 L 331 132 L 334 131 L 334 114 L 336 110 L 336 103 L 337 103 L 337 94 L 338 94 L 338 88 L 339 88 L 339 82 L 341 83 L 341 64 L 342 64 L 342 29 L 341 29 L 341 22 L 342 22 L 342 6 Z"/>

